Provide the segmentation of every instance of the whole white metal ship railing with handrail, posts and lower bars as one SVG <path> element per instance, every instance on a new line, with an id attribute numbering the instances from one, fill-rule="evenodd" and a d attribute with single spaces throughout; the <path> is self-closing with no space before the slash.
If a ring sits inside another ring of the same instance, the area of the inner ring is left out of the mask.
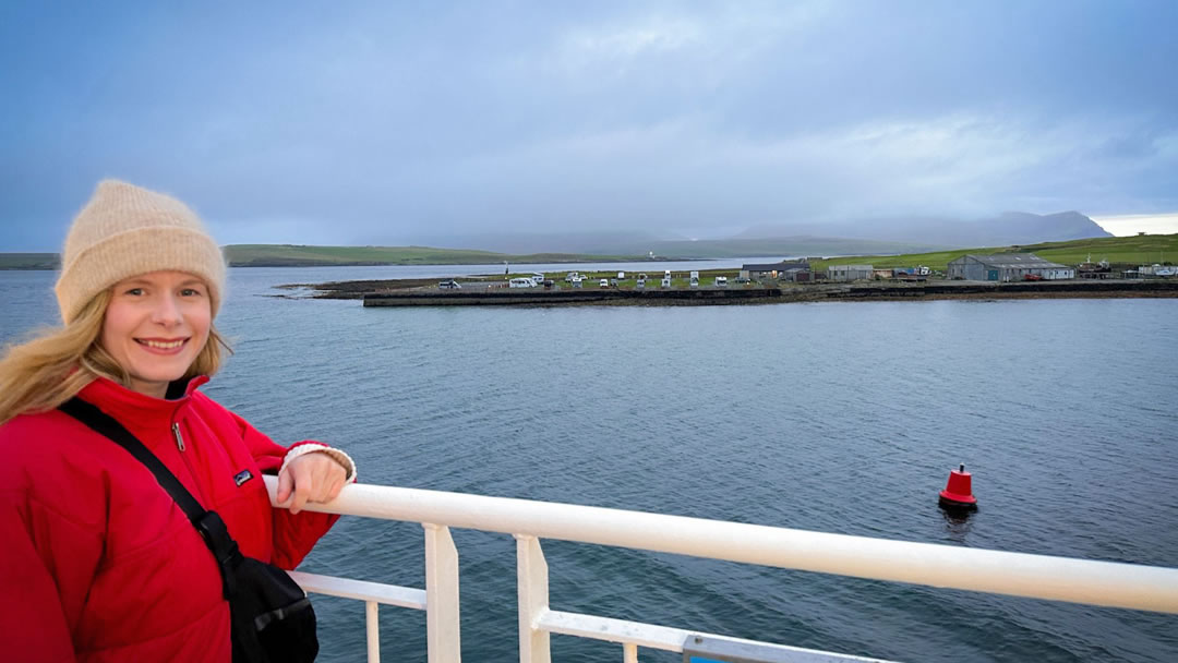
<path id="1" fill-rule="evenodd" d="M 277 479 L 266 477 L 273 502 Z M 750 643 L 682 629 L 561 612 L 548 605 L 548 564 L 540 539 L 743 562 L 785 569 L 1178 614 L 1178 569 L 978 550 L 687 518 L 551 502 L 355 484 L 307 510 L 422 523 L 425 590 L 294 572 L 307 591 L 364 601 L 369 661 L 379 661 L 377 605 L 425 610 L 430 663 L 459 661 L 458 553 L 449 528 L 512 535 L 521 663 L 548 663 L 549 635 L 620 643 L 623 661 L 638 647 L 681 652 L 691 642 L 756 645 L 766 661 L 868 661 L 785 645 Z M 701 639 L 702 638 L 702 639 Z M 776 656 L 776 658 L 774 658 Z"/>

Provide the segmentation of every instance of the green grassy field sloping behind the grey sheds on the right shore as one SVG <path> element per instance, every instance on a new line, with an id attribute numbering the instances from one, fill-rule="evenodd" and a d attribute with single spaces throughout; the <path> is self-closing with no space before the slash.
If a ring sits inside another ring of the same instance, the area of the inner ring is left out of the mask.
<path id="1" fill-rule="evenodd" d="M 872 265 L 880 268 L 925 265 L 932 270 L 944 272 L 951 260 L 955 260 L 967 253 L 992 254 L 1007 252 L 1034 253 L 1045 260 L 1059 263 L 1060 265 L 1079 265 L 1091 256 L 1093 261 L 1108 260 L 1110 264 L 1121 268 L 1136 267 L 1138 265 L 1173 263 L 1178 260 L 1178 233 L 1098 237 L 1092 239 L 1073 239 L 1070 241 L 1027 244 L 1023 246 L 958 248 L 933 253 L 905 253 L 902 256 L 852 256 L 818 260 L 813 266 L 815 271 L 823 271 L 829 265 Z"/>

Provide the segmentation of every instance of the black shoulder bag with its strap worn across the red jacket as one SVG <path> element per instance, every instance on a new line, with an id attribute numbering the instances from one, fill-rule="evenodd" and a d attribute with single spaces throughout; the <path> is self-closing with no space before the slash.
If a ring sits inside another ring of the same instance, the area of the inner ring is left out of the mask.
<path id="1" fill-rule="evenodd" d="M 123 424 L 80 398 L 60 410 L 126 449 L 200 532 L 221 572 L 232 622 L 233 663 L 310 663 L 319 654 L 315 610 L 298 583 L 278 566 L 246 557 L 216 511 L 206 511 L 184 484 Z"/>

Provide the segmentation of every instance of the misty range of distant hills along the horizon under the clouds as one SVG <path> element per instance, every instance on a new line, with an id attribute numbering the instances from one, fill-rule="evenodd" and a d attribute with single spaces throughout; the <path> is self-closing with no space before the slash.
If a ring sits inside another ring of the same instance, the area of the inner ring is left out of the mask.
<path id="1" fill-rule="evenodd" d="M 508 233 L 450 238 L 481 250 L 434 246 L 299 246 L 234 244 L 232 266 L 492 265 L 509 263 L 637 261 L 663 259 L 785 258 L 927 253 L 961 246 L 1011 246 L 1108 238 L 1079 212 L 1006 212 L 992 219 L 868 219 L 841 224 L 756 226 L 728 239 L 657 238 L 646 232 Z M 1156 236 L 1153 236 L 1156 237 Z M 0 253 L 0 270 L 55 270 L 54 253 Z"/>

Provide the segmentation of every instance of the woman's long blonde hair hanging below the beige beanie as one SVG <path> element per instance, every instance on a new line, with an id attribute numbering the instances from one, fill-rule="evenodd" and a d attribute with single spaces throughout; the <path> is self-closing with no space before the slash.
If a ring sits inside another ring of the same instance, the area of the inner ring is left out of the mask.
<path id="1" fill-rule="evenodd" d="M 131 385 L 126 369 L 99 343 L 110 303 L 111 291 L 104 290 L 70 324 L 51 327 L 32 340 L 6 349 L 0 359 L 0 425 L 18 415 L 53 410 L 97 378 Z M 209 339 L 184 377 L 216 373 L 223 347 L 232 352 L 210 325 Z"/>

